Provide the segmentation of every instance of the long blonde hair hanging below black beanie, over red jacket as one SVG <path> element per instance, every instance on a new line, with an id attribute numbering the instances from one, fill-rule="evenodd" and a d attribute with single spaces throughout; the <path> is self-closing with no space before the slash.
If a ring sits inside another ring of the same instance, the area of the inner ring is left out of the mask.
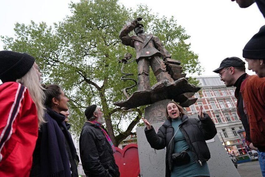
<path id="1" fill-rule="evenodd" d="M 37 69 L 32 66 L 31 69 L 22 78 L 17 79 L 16 82 L 27 87 L 31 98 L 37 107 L 38 124 L 40 126 L 43 122 L 45 122 L 44 114 L 46 108 L 43 106 L 45 94 L 42 86 L 40 85 L 37 72 Z"/>

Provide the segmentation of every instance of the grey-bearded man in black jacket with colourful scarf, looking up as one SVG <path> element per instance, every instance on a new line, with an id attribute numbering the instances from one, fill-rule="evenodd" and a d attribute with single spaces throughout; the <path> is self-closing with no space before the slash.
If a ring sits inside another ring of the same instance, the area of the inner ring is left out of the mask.
<path id="1" fill-rule="evenodd" d="M 85 122 L 79 139 L 80 159 L 86 176 L 119 177 L 113 153 L 116 149 L 102 124 L 103 113 L 97 105 L 86 108 Z"/>

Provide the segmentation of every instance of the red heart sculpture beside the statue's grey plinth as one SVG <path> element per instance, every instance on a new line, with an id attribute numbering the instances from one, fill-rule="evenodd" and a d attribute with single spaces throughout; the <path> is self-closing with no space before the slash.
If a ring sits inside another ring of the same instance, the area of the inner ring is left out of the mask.
<path id="1" fill-rule="evenodd" d="M 137 144 L 128 144 L 123 149 L 116 148 L 114 158 L 119 167 L 120 177 L 137 177 L 140 173 Z"/>

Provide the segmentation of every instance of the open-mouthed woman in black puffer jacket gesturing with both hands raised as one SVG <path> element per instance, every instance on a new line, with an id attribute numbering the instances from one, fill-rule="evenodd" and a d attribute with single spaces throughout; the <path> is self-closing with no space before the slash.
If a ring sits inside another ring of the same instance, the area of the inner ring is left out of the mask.
<path id="1" fill-rule="evenodd" d="M 166 177 L 210 176 L 206 163 L 210 151 L 205 140 L 212 139 L 217 130 L 212 119 L 199 110 L 199 119 L 188 118 L 176 102 L 166 108 L 167 120 L 158 133 L 146 119 L 145 135 L 152 148 L 167 148 Z"/>

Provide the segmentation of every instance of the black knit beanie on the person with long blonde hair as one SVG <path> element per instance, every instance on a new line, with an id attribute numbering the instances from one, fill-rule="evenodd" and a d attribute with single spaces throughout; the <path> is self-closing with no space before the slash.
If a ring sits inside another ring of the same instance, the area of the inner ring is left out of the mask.
<path id="1" fill-rule="evenodd" d="M 0 79 L 2 82 L 16 81 L 33 66 L 35 58 L 26 53 L 0 51 Z"/>

